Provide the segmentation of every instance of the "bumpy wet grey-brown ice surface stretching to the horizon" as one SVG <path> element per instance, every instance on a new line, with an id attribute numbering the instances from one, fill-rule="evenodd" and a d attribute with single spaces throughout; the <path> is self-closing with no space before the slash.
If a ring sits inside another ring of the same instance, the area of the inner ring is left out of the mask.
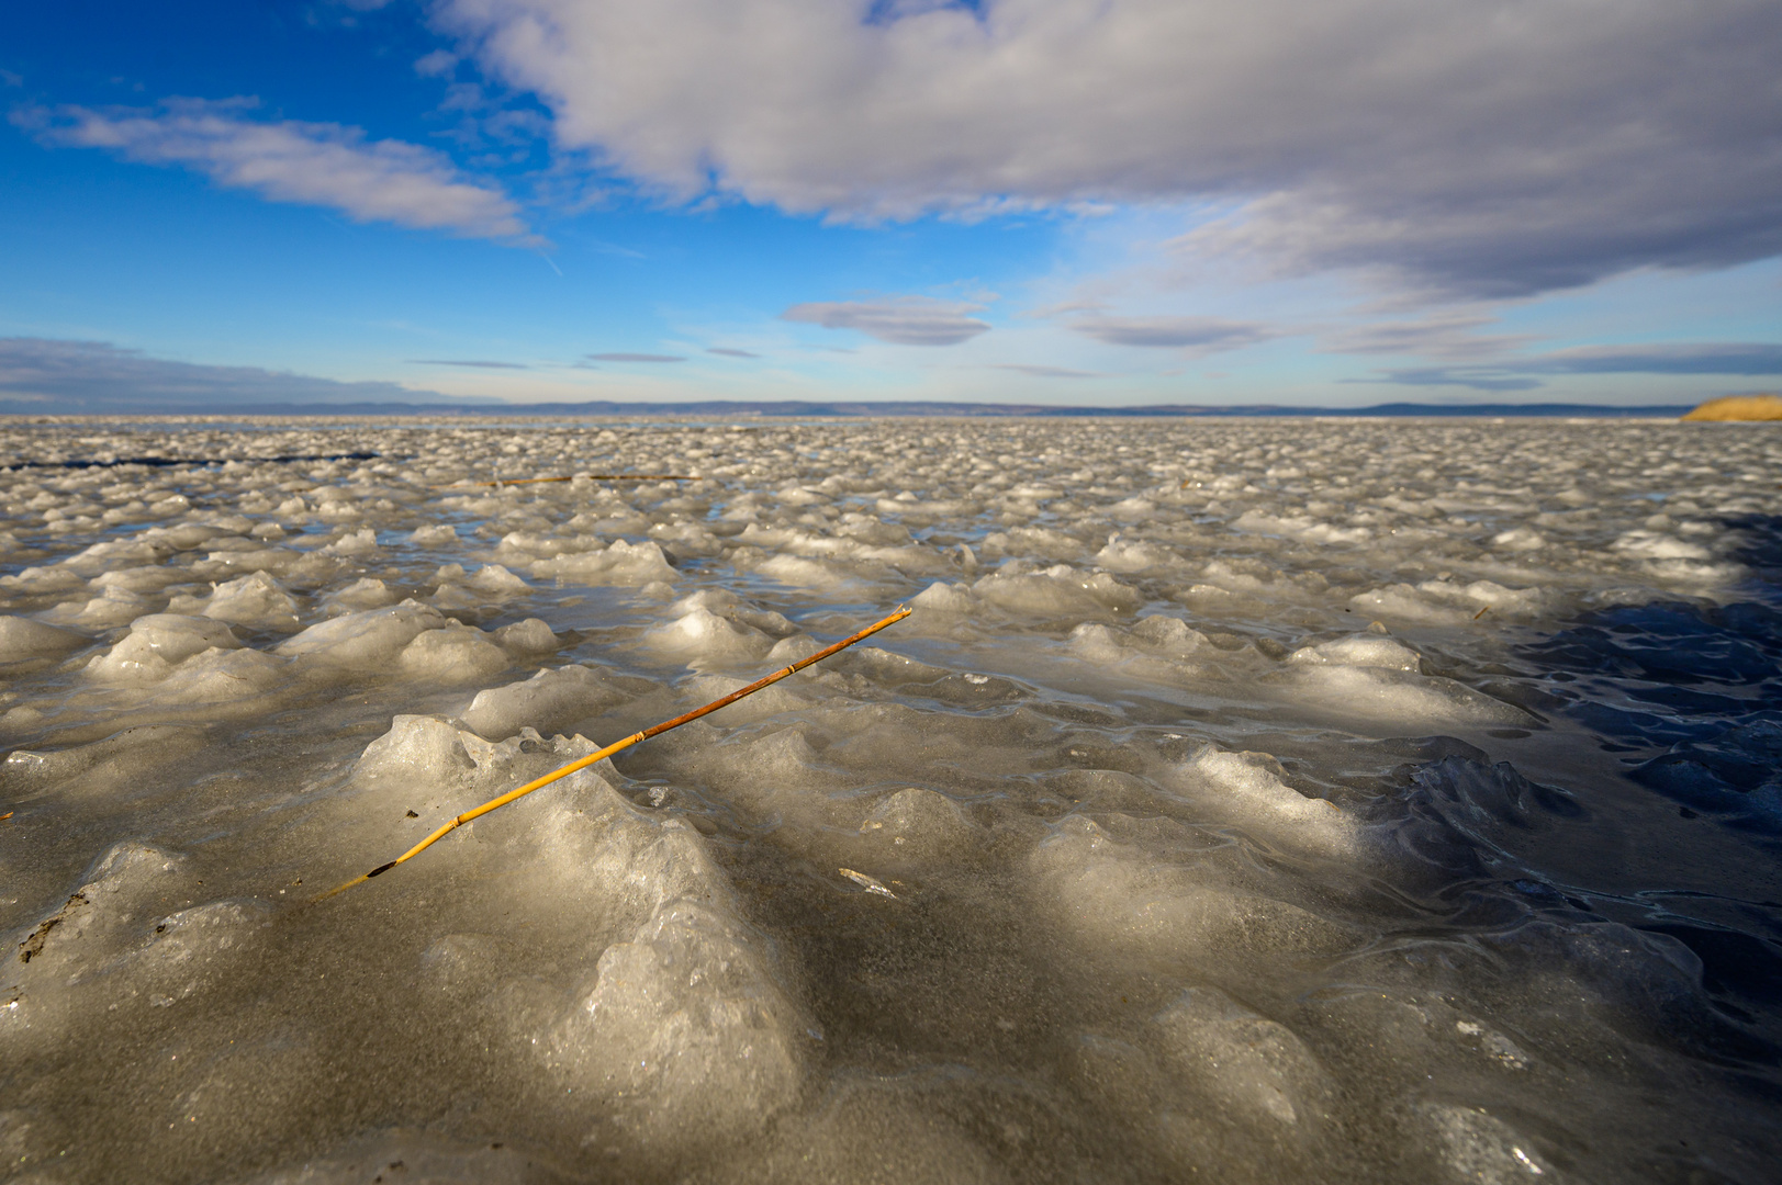
<path id="1" fill-rule="evenodd" d="M 1766 426 L 89 421 L 0 460 L 9 1180 L 1782 1164 Z M 699 479 L 435 488 L 618 469 Z"/>

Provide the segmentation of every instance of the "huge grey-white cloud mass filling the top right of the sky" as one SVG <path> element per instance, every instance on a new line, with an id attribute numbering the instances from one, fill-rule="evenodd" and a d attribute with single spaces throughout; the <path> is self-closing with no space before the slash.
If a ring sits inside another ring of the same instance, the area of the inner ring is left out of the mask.
<path id="1" fill-rule="evenodd" d="M 1520 296 L 1782 251 L 1775 0 L 440 0 L 683 200 L 1238 203 L 1183 246 Z"/>

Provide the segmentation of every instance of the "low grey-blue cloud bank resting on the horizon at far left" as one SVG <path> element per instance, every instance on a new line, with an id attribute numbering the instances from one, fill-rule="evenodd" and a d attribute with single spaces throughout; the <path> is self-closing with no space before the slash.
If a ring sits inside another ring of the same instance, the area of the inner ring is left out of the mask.
<path id="1" fill-rule="evenodd" d="M 446 401 L 396 383 L 339 383 L 260 367 L 153 358 L 109 342 L 0 337 L 0 403 L 45 413 L 166 412 L 310 403 Z"/>

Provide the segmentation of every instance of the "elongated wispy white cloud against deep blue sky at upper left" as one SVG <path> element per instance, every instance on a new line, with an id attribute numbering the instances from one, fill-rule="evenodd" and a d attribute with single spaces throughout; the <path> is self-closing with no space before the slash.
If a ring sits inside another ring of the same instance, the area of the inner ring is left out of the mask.
<path id="1" fill-rule="evenodd" d="M 463 176 L 431 148 L 369 141 L 339 123 L 253 119 L 253 100 L 168 100 L 153 110 L 30 107 L 12 123 L 50 144 L 105 148 L 127 160 L 184 166 L 273 201 L 319 205 L 360 223 L 444 230 L 542 246 L 501 189 Z"/>

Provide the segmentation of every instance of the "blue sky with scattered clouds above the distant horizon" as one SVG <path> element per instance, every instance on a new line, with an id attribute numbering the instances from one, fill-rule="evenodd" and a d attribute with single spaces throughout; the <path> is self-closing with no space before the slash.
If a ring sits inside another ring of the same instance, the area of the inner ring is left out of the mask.
<path id="1" fill-rule="evenodd" d="M 9 5 L 0 403 L 1775 388 L 1775 45 L 1745 0 Z"/>

